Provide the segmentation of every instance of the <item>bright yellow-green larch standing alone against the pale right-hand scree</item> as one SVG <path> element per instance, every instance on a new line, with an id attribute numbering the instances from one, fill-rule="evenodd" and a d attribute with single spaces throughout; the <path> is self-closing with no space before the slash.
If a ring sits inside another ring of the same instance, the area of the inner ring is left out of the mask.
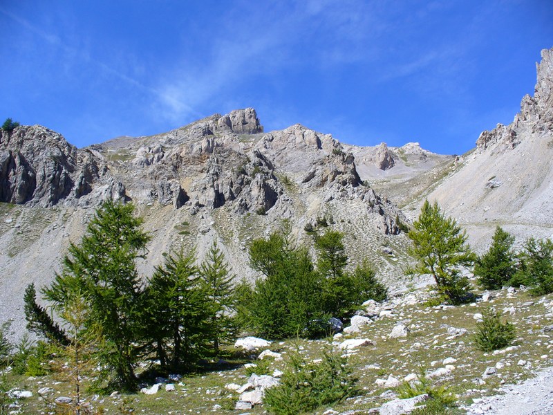
<path id="1" fill-rule="evenodd" d="M 435 202 L 424 201 L 413 229 L 407 234 L 413 245 L 409 254 L 418 261 L 410 272 L 430 274 L 438 295 L 458 304 L 467 295 L 469 281 L 462 277 L 461 266 L 471 266 L 476 259 L 467 243 L 467 234 L 451 217 L 446 218 Z"/>

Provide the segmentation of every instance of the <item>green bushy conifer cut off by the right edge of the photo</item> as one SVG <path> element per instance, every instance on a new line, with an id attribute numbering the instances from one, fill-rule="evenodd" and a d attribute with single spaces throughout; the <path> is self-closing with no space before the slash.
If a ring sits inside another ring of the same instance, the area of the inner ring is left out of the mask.
<path id="1" fill-rule="evenodd" d="M 519 255 L 519 266 L 511 284 L 532 287 L 532 293 L 553 293 L 553 242 L 527 239 Z"/>

